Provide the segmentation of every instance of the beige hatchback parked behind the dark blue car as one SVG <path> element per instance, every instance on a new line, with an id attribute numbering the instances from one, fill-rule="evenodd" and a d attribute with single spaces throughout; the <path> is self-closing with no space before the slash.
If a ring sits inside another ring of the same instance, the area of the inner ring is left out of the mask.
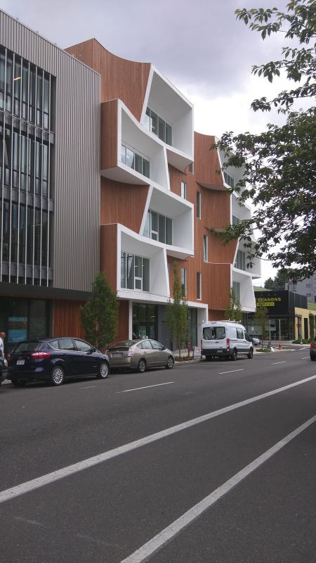
<path id="1" fill-rule="evenodd" d="M 136 369 L 143 373 L 148 367 L 164 366 L 172 369 L 174 357 L 171 350 L 152 339 L 124 340 L 107 350 L 110 365 Z"/>

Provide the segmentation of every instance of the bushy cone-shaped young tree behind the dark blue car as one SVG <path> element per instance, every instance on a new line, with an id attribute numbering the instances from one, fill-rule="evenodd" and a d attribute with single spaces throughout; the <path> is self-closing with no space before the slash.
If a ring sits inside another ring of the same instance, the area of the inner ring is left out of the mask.
<path id="1" fill-rule="evenodd" d="M 117 334 L 119 303 L 104 272 L 99 272 L 92 285 L 92 294 L 81 307 L 81 324 L 85 338 L 103 350 Z"/>

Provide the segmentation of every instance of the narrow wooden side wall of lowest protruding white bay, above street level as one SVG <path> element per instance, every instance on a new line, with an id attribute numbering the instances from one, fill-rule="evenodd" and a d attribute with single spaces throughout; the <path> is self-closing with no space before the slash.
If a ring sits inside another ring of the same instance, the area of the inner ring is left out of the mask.
<path id="1" fill-rule="evenodd" d="M 117 224 L 100 227 L 100 270 L 105 272 L 113 291 L 117 291 Z"/>

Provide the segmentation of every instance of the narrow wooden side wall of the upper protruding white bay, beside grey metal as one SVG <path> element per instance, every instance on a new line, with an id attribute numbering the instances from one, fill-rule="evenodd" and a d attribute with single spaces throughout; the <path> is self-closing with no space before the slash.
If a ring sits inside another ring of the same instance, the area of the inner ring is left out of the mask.
<path id="1" fill-rule="evenodd" d="M 117 166 L 117 100 L 101 103 L 100 167 Z"/>

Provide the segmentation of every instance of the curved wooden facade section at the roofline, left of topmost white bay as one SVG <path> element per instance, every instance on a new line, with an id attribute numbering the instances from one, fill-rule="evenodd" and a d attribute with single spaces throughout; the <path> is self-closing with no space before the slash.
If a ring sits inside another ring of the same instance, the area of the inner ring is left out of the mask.
<path id="1" fill-rule="evenodd" d="M 101 75 L 101 101 L 119 98 L 140 120 L 150 63 L 128 61 L 107 51 L 96 39 L 66 49 Z"/>

